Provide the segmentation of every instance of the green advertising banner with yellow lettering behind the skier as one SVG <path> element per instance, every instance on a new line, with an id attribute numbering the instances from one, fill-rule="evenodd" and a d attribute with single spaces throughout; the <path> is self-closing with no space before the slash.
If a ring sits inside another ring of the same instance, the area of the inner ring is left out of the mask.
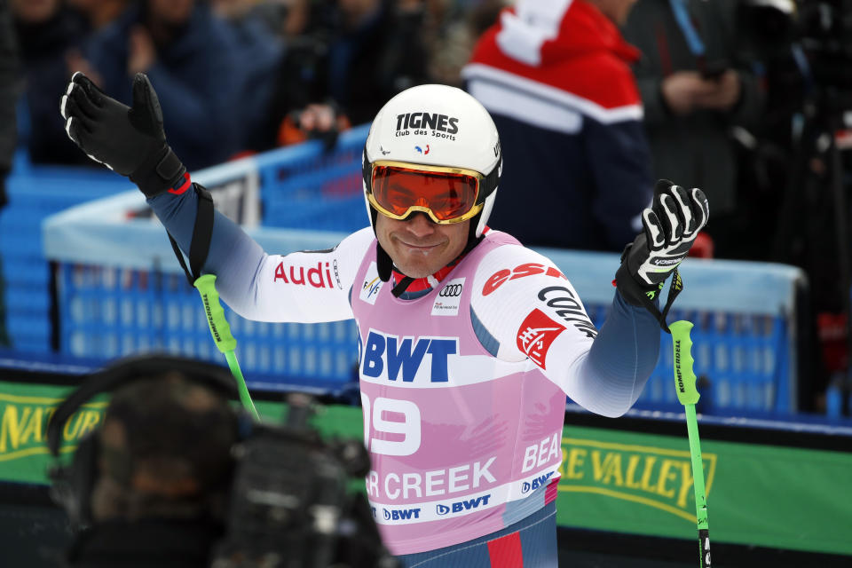
<path id="1" fill-rule="evenodd" d="M 69 390 L 0 383 L 0 481 L 47 483 L 46 424 Z M 272 422 L 285 412 L 280 403 L 256 406 Z M 96 398 L 71 417 L 63 454 L 98 427 L 105 407 Z M 321 407 L 313 424 L 327 436 L 362 436 L 357 407 Z M 701 449 L 714 540 L 852 555 L 852 453 L 714 439 Z M 682 436 L 669 436 L 568 423 L 562 454 L 560 525 L 696 537 L 685 424 Z"/>

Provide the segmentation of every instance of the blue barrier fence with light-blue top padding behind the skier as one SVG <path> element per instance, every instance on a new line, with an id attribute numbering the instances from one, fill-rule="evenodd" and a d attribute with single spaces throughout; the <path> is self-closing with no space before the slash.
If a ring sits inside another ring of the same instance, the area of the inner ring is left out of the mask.
<path id="1" fill-rule="evenodd" d="M 319 143 L 261 154 L 193 177 L 205 185 L 259 180 L 263 225 L 248 229 L 270 252 L 328 248 L 366 225 L 360 151 L 367 129 L 347 132 L 335 152 Z M 239 184 L 237 184 L 239 185 Z M 248 185 L 248 184 L 244 184 Z M 165 349 L 217 359 L 201 303 L 186 285 L 162 227 L 129 218 L 146 208 L 136 191 L 51 217 L 44 251 L 59 263 L 61 351 L 111 359 Z M 317 230 L 324 229 L 324 230 Z M 132 251 L 127 243 L 132 242 Z M 129 254 L 131 252 L 131 254 Z M 541 250 L 577 288 L 600 325 L 611 303 L 619 257 Z M 706 411 L 795 411 L 794 296 L 801 271 L 778 264 L 687 260 L 686 288 L 670 319 L 696 324 L 696 372 Z M 730 290 L 736 290 L 731 294 Z M 351 321 L 270 324 L 225 310 L 248 381 L 265 389 L 312 384 L 337 390 L 354 380 L 357 336 Z M 668 336 L 640 406 L 675 409 Z"/>

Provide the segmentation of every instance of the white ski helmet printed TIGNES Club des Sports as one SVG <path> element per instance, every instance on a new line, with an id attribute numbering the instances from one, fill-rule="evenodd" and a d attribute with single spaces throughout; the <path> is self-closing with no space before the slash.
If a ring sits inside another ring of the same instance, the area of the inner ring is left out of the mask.
<path id="1" fill-rule="evenodd" d="M 477 240 L 491 215 L 502 170 L 497 127 L 477 99 L 447 85 L 419 85 L 400 92 L 375 115 L 364 146 L 363 177 L 367 214 L 375 230 L 377 214 L 371 191 L 377 160 L 474 170 L 484 176 L 477 204 L 482 211 L 471 219 L 470 239 Z"/>

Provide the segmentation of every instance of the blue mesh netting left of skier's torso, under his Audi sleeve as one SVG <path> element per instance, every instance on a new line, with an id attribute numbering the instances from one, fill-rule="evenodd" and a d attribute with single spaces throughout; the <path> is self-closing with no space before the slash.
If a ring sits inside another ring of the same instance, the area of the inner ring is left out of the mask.
<path id="1" fill-rule="evenodd" d="M 185 277 L 103 266 L 60 264 L 62 352 L 113 359 L 169 351 L 222 363 L 201 298 Z M 355 322 L 296 324 L 243 319 L 225 306 L 249 377 L 308 384 L 352 381 L 358 357 Z"/>

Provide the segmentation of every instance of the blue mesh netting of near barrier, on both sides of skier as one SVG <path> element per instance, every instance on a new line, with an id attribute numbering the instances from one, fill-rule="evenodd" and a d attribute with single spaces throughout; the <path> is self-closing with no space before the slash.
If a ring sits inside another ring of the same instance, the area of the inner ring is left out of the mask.
<path id="1" fill-rule="evenodd" d="M 60 265 L 63 352 L 111 359 L 166 350 L 221 362 L 209 336 L 201 301 L 183 275 L 101 266 Z M 597 326 L 607 306 L 589 304 Z M 276 375 L 288 382 L 343 385 L 353 380 L 358 357 L 354 321 L 271 324 L 242 319 L 225 307 L 247 375 Z M 782 319 L 745 313 L 682 312 L 690 319 L 695 372 L 705 412 L 789 412 L 788 354 Z M 672 347 L 662 334 L 659 364 L 639 398 L 640 407 L 676 410 Z"/>

